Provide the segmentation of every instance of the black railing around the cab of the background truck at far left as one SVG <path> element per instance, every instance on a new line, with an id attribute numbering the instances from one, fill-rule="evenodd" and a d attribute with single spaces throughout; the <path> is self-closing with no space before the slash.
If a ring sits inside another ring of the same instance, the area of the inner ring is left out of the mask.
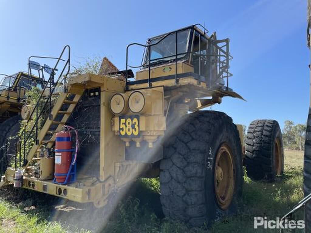
<path id="1" fill-rule="evenodd" d="M 0 74 L 0 77 L 1 76 L 4 76 L 4 77 L 2 78 L 1 84 L 0 84 L 0 97 L 5 97 L 7 98 L 7 100 L 15 99 L 17 102 L 19 102 L 21 100 L 21 93 L 24 94 L 23 96 L 25 96 L 26 94 L 25 88 L 15 85 L 15 83 L 19 82 L 21 75 L 19 74 L 18 76 L 12 76 L 12 75 Z M 3 80 L 5 80 L 6 78 L 8 78 L 9 80 L 9 83 L 8 83 L 9 85 L 3 84 Z M 12 92 L 16 93 L 16 96 L 11 96 Z"/>

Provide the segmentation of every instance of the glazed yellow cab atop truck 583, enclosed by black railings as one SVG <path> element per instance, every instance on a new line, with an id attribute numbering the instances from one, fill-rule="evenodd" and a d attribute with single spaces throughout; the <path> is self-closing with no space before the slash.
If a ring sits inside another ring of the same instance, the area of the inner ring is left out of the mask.
<path id="1" fill-rule="evenodd" d="M 225 80 L 232 76 L 229 39 L 217 40 L 215 32 L 211 36 L 207 32 L 202 25 L 191 25 L 152 37 L 145 45 L 130 44 L 128 47 L 145 47 L 145 53 L 136 80 L 128 84 L 144 87 L 142 84 L 148 83 L 150 87 L 159 81 L 178 82 L 188 77 L 203 82 L 208 89 L 231 90 L 228 82 L 225 85 Z"/>

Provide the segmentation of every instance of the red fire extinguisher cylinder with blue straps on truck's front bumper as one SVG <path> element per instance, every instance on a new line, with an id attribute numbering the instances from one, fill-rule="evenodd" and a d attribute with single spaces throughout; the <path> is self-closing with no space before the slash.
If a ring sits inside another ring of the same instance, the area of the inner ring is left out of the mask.
<path id="1" fill-rule="evenodd" d="M 56 134 L 55 140 L 55 173 L 54 173 L 55 180 L 58 183 L 63 183 L 66 180 L 71 164 L 72 151 L 73 150 L 70 132 L 69 131 L 58 132 Z"/>

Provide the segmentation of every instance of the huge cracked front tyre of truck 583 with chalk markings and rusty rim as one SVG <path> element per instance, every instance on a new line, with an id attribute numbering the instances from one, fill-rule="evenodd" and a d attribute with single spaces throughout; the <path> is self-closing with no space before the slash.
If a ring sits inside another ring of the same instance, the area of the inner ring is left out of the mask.
<path id="1" fill-rule="evenodd" d="M 185 115 L 165 138 L 160 193 L 166 217 L 191 226 L 233 214 L 242 195 L 242 148 L 223 112 Z"/>

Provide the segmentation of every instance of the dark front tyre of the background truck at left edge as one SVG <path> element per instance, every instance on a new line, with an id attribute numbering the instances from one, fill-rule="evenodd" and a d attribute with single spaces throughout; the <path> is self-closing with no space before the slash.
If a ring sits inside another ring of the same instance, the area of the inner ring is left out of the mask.
<path id="1" fill-rule="evenodd" d="M 21 117 L 17 115 L 17 116 L 7 119 L 6 121 L 2 122 L 0 125 L 0 166 L 1 166 L 3 155 L 6 150 L 7 139 L 15 136 L 18 133 L 20 129 L 20 120 L 21 120 Z M 16 139 L 10 139 L 9 142 L 10 143 L 8 147 L 8 153 L 13 154 L 15 153 L 14 144 L 16 142 Z M 3 169 L 5 169 L 6 166 L 7 164 L 3 167 Z"/>

